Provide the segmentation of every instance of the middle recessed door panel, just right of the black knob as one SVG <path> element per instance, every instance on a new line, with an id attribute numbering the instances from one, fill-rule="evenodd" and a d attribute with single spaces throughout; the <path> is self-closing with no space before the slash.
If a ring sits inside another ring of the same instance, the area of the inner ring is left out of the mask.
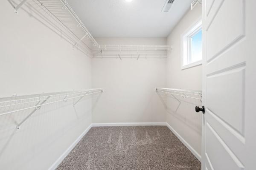
<path id="1" fill-rule="evenodd" d="M 244 135 L 244 65 L 207 75 L 207 108 Z M 232 96 L 232 97 L 230 97 Z"/>

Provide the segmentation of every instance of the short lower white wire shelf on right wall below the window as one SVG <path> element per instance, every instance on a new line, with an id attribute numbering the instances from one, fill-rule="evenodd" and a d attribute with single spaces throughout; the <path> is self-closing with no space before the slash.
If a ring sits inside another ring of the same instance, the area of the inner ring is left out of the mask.
<path id="1" fill-rule="evenodd" d="M 182 98 L 196 99 L 202 102 L 202 91 L 175 89 L 175 88 L 156 88 L 156 91 L 161 93 L 171 94 L 172 96 L 181 96 Z"/>

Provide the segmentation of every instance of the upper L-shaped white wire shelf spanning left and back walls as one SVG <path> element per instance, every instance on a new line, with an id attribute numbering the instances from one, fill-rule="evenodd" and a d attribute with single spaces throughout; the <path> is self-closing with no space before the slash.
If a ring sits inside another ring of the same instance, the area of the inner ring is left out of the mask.
<path id="1" fill-rule="evenodd" d="M 28 1 L 35 2 L 35 9 L 42 9 L 43 15 L 48 14 L 61 29 L 68 31 L 74 37 L 73 49 L 82 49 L 90 58 L 167 58 L 167 52 L 172 49 L 171 45 L 99 45 L 67 0 L 22 0 L 15 13 Z"/>

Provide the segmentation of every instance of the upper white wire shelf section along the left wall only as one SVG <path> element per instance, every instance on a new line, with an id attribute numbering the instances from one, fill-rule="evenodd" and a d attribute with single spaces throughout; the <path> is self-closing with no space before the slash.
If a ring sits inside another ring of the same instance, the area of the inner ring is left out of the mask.
<path id="1" fill-rule="evenodd" d="M 23 5 L 28 5 L 26 2 L 29 2 L 28 4 L 34 2 L 37 5 L 35 7 L 37 11 L 43 11 L 43 15 L 48 14 L 50 17 L 54 18 L 58 24 L 63 26 L 65 30 L 69 31 L 70 34 L 75 37 L 75 40 L 73 40 L 73 49 L 82 48 L 85 54 L 90 55 L 89 57 L 91 57 L 91 49 L 93 45 L 99 47 L 98 42 L 93 38 L 90 31 L 85 27 L 84 23 L 67 3 L 67 0 L 22 0 L 15 7 L 15 13 L 18 13 L 19 8 Z M 30 8 L 31 6 L 27 7 Z"/>

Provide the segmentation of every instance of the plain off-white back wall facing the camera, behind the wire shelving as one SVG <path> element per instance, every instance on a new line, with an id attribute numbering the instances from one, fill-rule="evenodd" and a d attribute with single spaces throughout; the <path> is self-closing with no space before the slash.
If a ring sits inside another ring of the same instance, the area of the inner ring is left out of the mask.
<path id="1" fill-rule="evenodd" d="M 96 39 L 99 44 L 165 45 L 165 38 Z M 166 122 L 154 91 L 166 85 L 166 59 L 93 59 L 93 88 L 103 88 L 93 123 Z"/>

